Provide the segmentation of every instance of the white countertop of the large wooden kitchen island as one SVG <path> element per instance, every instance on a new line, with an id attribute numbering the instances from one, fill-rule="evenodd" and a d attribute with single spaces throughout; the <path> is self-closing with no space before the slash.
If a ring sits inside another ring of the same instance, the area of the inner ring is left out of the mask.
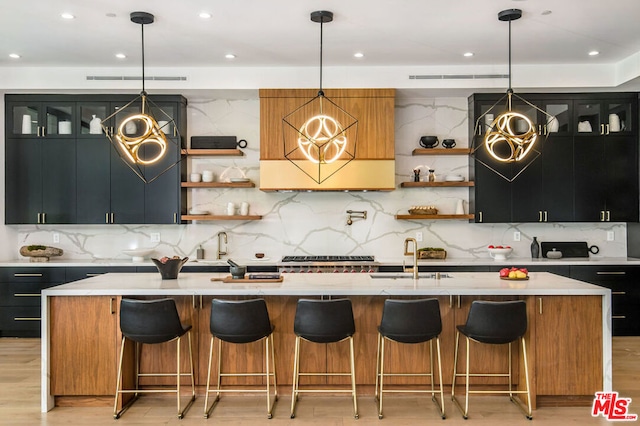
<path id="1" fill-rule="evenodd" d="M 456 272 L 450 278 L 391 278 L 398 274 L 286 274 L 283 282 L 223 283 L 228 273 L 108 273 L 42 291 L 49 296 L 356 296 L 356 295 L 606 295 L 609 289 L 546 272 L 529 280 L 502 280 L 495 272 Z M 372 278 L 373 276 L 389 278 Z M 443 274 L 444 275 L 444 274 Z"/>

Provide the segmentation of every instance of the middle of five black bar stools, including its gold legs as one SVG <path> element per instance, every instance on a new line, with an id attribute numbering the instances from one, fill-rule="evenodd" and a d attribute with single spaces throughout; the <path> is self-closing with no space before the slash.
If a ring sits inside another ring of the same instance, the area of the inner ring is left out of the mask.
<path id="1" fill-rule="evenodd" d="M 291 418 L 295 417 L 296 401 L 300 393 L 350 392 L 353 397 L 354 417 L 358 416 L 356 399 L 356 374 L 353 351 L 353 334 L 356 331 L 351 300 L 310 300 L 300 299 L 296 307 L 293 332 L 296 345 L 293 360 L 293 389 L 291 391 Z M 337 343 L 349 341 L 350 372 L 348 373 L 311 373 L 300 372 L 300 341 L 313 343 Z M 351 389 L 300 389 L 300 376 L 350 376 Z"/>

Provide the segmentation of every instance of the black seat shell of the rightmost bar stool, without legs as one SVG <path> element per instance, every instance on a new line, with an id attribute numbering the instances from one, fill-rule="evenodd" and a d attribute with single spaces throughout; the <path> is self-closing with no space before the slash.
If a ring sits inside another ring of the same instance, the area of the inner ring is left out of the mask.
<path id="1" fill-rule="evenodd" d="M 527 332 L 527 305 L 524 300 L 490 302 L 474 300 L 464 326 L 465 336 L 482 343 L 503 344 Z"/>

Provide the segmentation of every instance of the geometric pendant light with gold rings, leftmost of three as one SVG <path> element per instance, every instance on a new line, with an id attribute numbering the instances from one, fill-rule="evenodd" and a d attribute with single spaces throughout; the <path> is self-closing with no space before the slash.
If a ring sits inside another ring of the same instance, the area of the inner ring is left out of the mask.
<path id="1" fill-rule="evenodd" d="M 167 151 L 180 152 L 181 142 L 179 134 L 177 140 L 167 137 L 169 129 L 176 129 L 176 123 L 171 115 L 149 100 L 144 87 L 144 26 L 152 24 L 154 16 L 132 12 L 130 17 L 133 23 L 140 24 L 142 32 L 142 91 L 106 117 L 102 129 L 120 159 L 145 183 L 151 183 L 181 161 L 181 157 L 177 161 L 165 159 Z M 107 127 L 110 121 L 115 122 L 113 128 Z"/>

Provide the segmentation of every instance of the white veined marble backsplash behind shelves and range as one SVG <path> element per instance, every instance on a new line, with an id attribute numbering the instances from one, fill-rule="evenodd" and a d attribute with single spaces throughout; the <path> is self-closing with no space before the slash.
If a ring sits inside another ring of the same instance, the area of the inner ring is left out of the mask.
<path id="1" fill-rule="evenodd" d="M 189 171 L 212 170 L 214 175 L 244 173 L 259 184 L 259 117 L 257 98 L 189 98 L 190 135 L 236 135 L 246 139 L 244 157 L 191 158 Z M 468 177 L 465 156 L 414 157 L 422 135 L 455 139 L 468 146 L 467 99 L 402 98 L 396 100 L 396 186 L 435 170 L 439 179 L 456 173 Z M 626 257 L 624 223 L 474 224 L 460 220 L 406 221 L 395 214 L 413 205 L 434 205 L 441 213 L 454 213 L 463 200 L 468 212 L 467 188 L 398 188 L 391 192 L 266 193 L 255 189 L 189 189 L 190 208 L 224 214 L 227 203 L 248 202 L 259 221 L 195 222 L 188 225 L 23 225 L 5 227 L 15 241 L 15 255 L 25 244 L 48 244 L 64 249 L 65 259 L 125 259 L 122 250 L 149 247 L 155 255 L 195 258 L 199 246 L 207 259 L 215 259 L 217 233 L 228 236 L 228 256 L 248 258 L 263 252 L 273 260 L 290 254 L 373 254 L 379 259 L 402 257 L 403 241 L 421 232 L 419 246 L 444 247 L 448 258 L 488 258 L 488 244 L 510 245 L 514 256 L 529 256 L 534 236 L 538 241 L 587 241 L 600 247 L 601 257 Z M 367 219 L 347 225 L 347 210 L 366 210 Z M 521 241 L 513 241 L 514 232 Z M 607 231 L 614 241 L 606 241 Z M 160 241 L 152 242 L 152 234 Z M 59 237 L 53 243 L 54 235 Z M 10 252 L 11 250 L 8 250 Z M 7 250 L 5 250 L 7 252 Z"/>

